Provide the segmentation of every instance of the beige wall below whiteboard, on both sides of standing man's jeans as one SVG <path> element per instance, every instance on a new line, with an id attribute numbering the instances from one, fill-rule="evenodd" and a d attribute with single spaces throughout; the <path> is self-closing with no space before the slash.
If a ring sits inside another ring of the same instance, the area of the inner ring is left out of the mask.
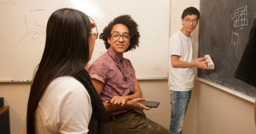
<path id="1" fill-rule="evenodd" d="M 144 110 L 147 118 L 169 129 L 171 121 L 171 92 L 168 88 L 168 80 L 139 80 L 143 98 L 147 101 L 160 102 L 157 108 Z M 196 134 L 197 117 L 197 90 L 192 90 L 189 109 L 184 121 L 182 133 Z"/>

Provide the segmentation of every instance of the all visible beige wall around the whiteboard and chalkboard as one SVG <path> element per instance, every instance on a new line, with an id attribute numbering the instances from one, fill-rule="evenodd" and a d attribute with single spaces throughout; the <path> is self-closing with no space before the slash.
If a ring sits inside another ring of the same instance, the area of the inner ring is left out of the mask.
<path id="1" fill-rule="evenodd" d="M 181 13 L 189 6 L 199 9 L 199 0 L 171 0 L 171 35 L 182 28 Z M 198 27 L 191 35 L 194 38 L 194 58 L 197 58 Z M 19 133 L 26 126 L 30 84 L 0 83 L 0 97 L 4 97 L 5 105 L 10 106 L 12 134 Z M 144 98 L 160 102 L 158 108 L 144 110 L 147 117 L 169 128 L 171 93 L 168 80 L 139 80 L 139 84 Z M 183 134 L 256 133 L 253 103 L 195 80 L 182 131 Z"/>

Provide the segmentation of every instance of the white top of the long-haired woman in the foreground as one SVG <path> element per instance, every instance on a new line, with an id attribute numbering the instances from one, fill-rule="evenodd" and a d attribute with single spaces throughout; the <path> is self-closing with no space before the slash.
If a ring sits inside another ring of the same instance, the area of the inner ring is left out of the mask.
<path id="1" fill-rule="evenodd" d="M 46 88 L 36 109 L 36 133 L 88 133 L 91 115 L 91 98 L 85 87 L 74 77 L 58 77 Z"/>

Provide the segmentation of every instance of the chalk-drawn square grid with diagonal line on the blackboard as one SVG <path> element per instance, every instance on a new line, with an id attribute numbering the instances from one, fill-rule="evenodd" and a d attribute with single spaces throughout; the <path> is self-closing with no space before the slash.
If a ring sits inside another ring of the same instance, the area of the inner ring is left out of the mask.
<path id="1" fill-rule="evenodd" d="M 248 25 L 247 23 L 247 5 L 234 10 L 234 27 Z"/>

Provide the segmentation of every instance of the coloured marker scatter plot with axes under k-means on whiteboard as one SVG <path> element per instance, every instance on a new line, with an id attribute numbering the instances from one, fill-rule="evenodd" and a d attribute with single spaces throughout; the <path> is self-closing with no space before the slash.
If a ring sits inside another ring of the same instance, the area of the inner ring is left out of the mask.
<path id="1" fill-rule="evenodd" d="M 27 29 L 27 33 L 24 36 L 21 36 L 21 40 L 26 40 L 28 42 L 33 42 L 33 43 L 40 43 L 44 38 L 41 38 L 43 36 L 45 36 L 46 34 L 46 27 L 44 24 L 42 24 L 42 22 L 38 21 L 38 20 L 26 20 L 26 16 L 25 16 L 25 23 L 26 23 L 26 29 Z M 19 42 L 19 43 L 20 43 Z"/>

